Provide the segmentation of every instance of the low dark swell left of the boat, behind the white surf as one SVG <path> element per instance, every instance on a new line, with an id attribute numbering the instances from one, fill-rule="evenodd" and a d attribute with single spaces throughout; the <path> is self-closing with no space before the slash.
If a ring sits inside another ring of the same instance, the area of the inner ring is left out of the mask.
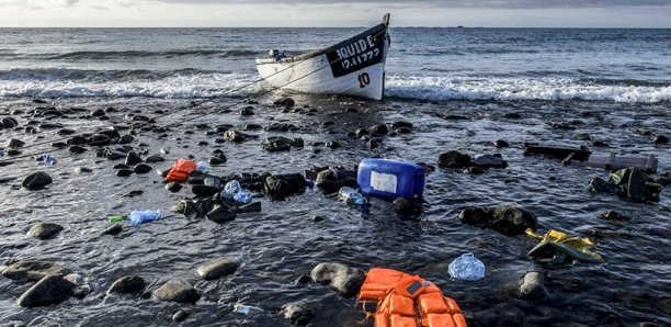
<path id="1" fill-rule="evenodd" d="M 259 52 L 244 50 L 244 49 L 232 49 L 232 50 L 218 50 L 218 49 L 181 49 L 181 50 L 167 50 L 167 52 L 138 52 L 138 50 L 123 50 L 123 52 L 71 52 L 62 54 L 42 54 L 38 55 L 44 60 L 110 60 L 110 59 L 137 59 L 137 58 L 174 58 L 174 57 L 218 57 L 218 58 L 231 58 L 231 57 L 254 57 L 258 56 Z"/>

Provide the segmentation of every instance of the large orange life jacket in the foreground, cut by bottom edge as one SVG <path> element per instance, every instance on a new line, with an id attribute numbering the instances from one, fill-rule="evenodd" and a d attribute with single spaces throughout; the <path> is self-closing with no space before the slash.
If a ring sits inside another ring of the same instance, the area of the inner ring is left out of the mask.
<path id="1" fill-rule="evenodd" d="M 375 301 L 375 327 L 466 327 L 456 302 L 430 281 L 401 271 L 373 268 L 359 301 Z"/>

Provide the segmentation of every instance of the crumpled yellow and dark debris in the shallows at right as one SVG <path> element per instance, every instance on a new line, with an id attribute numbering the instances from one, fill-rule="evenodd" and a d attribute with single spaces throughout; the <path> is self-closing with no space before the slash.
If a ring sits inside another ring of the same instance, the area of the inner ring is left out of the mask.
<path id="1" fill-rule="evenodd" d="M 538 236 L 531 228 L 526 229 L 526 235 L 541 240 L 527 255 L 547 263 L 562 264 L 569 259 L 589 263 L 603 262 L 601 255 L 592 251 L 596 244 L 587 237 L 570 236 L 555 229 Z"/>

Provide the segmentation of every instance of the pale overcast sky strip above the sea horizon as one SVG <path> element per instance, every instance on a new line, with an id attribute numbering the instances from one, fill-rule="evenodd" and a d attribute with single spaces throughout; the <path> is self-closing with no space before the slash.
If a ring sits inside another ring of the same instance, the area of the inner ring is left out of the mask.
<path id="1" fill-rule="evenodd" d="M 671 0 L 0 0 L 0 26 L 671 27 Z"/>

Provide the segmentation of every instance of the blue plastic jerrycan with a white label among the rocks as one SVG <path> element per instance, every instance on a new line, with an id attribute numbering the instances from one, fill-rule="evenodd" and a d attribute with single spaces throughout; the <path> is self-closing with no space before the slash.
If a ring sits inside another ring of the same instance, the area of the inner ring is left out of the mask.
<path id="1" fill-rule="evenodd" d="M 408 161 L 363 159 L 356 181 L 363 192 L 372 195 L 410 199 L 424 192 L 424 169 Z"/>

